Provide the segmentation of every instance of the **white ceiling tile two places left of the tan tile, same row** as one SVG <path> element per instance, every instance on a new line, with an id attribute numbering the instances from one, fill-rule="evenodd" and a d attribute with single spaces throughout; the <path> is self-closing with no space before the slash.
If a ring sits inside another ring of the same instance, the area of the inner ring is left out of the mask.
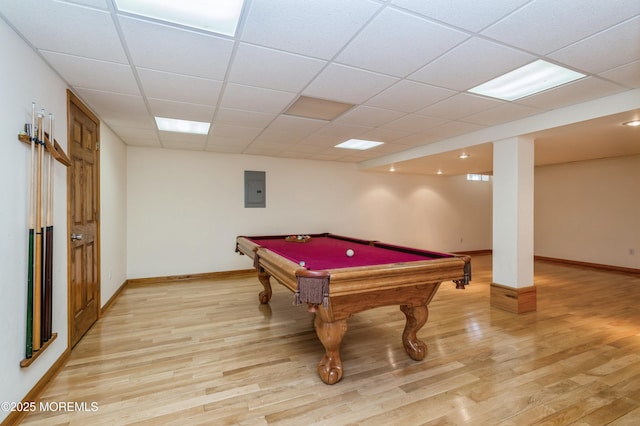
<path id="1" fill-rule="evenodd" d="M 222 90 L 222 82 L 218 80 L 145 68 L 138 68 L 138 77 L 149 98 L 215 106 Z"/>

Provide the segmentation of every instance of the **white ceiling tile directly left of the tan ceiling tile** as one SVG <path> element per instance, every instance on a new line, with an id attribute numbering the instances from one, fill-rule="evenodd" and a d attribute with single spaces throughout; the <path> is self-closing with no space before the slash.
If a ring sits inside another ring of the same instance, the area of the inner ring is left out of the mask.
<path id="1" fill-rule="evenodd" d="M 294 100 L 295 93 L 230 83 L 222 96 L 223 108 L 281 113 Z"/>

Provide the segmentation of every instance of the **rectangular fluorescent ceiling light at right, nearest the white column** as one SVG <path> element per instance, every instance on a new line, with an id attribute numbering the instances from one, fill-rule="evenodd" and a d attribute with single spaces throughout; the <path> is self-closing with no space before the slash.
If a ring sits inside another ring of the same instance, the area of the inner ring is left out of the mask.
<path id="1" fill-rule="evenodd" d="M 515 101 L 584 76 L 579 72 L 537 60 L 468 91 L 505 101 Z"/>

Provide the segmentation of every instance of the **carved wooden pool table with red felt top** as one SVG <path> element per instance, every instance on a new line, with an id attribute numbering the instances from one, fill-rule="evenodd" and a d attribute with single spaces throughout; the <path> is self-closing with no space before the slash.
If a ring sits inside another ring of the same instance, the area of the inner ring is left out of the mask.
<path id="1" fill-rule="evenodd" d="M 353 314 L 399 305 L 406 316 L 402 343 L 414 360 L 427 346 L 416 336 L 426 323 L 427 305 L 442 281 L 457 288 L 471 279 L 468 256 L 437 253 L 333 234 L 239 236 L 236 252 L 253 259 L 269 303 L 270 277 L 294 292 L 296 304 L 315 313 L 315 329 L 325 348 L 318 375 L 327 384 L 342 378 L 340 345 Z"/>

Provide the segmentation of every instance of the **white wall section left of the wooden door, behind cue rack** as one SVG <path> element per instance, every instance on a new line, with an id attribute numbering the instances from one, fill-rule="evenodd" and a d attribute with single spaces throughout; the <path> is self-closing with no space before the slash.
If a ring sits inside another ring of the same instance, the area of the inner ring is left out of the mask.
<path id="1" fill-rule="evenodd" d="M 56 118 L 54 137 L 67 150 L 66 85 L 0 20 L 0 401 L 19 402 L 67 347 L 67 181 L 54 175 L 53 331 L 57 339 L 28 368 L 25 357 L 30 148 L 17 134 L 31 103 Z M 0 411 L 0 421 L 9 413 Z"/>

